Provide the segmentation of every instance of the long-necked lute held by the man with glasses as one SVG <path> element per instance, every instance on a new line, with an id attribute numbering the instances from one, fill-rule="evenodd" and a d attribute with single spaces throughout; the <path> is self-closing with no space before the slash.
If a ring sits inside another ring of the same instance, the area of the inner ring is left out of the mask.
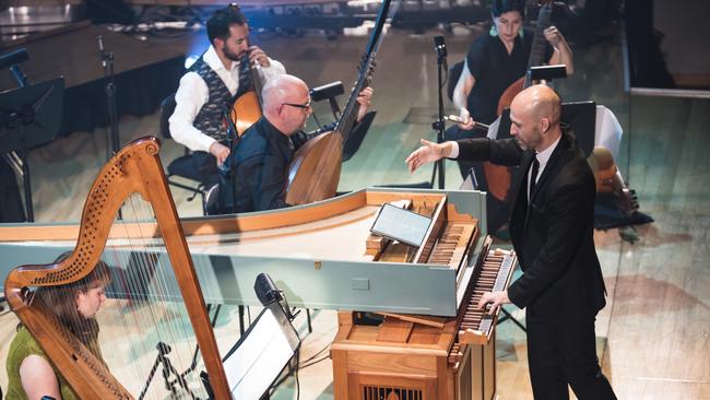
<path id="1" fill-rule="evenodd" d="M 347 105 L 332 131 L 321 133 L 307 141 L 295 153 L 288 165 L 285 201 L 292 205 L 307 204 L 335 196 L 343 160 L 343 145 L 353 130 L 359 111 L 357 96 L 371 81 L 375 54 L 381 42 L 382 27 L 391 0 L 383 0 L 375 30 L 359 68 L 359 77 Z"/>

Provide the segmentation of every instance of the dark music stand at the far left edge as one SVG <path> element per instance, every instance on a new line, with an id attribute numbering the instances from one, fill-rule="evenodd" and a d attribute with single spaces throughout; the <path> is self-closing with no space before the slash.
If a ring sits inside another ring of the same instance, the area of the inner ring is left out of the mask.
<path id="1" fill-rule="evenodd" d="M 27 221 L 34 221 L 27 151 L 51 142 L 59 134 L 64 79 L 0 92 L 0 154 L 17 152 L 22 160 Z"/>

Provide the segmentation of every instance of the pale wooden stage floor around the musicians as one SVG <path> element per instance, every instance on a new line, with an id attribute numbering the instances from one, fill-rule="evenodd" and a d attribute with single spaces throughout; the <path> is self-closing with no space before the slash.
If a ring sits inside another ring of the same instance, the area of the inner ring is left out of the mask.
<path id="1" fill-rule="evenodd" d="M 409 174 L 404 158 L 419 138 L 435 138 L 428 117 L 437 105 L 435 34 L 393 32 L 384 38 L 374 81 L 379 113 L 359 152 L 344 164 L 341 190 L 429 179 L 428 168 Z M 462 59 L 475 34 L 473 30 L 447 36 L 451 63 Z M 365 37 L 257 39 L 311 86 L 335 80 L 348 86 L 366 44 Z M 596 322 L 604 373 L 619 399 L 710 399 L 710 101 L 629 96 L 623 91 L 620 38 L 573 50 L 576 73 L 558 89 L 566 101 L 594 99 L 617 115 L 625 130 L 617 164 L 636 189 L 641 211 L 655 220 L 622 232 L 637 236 L 634 244 L 624 242 L 618 230 L 595 233 L 608 290 L 608 304 Z M 405 121 L 413 108 L 424 117 Z M 318 104 L 317 111 L 321 121 L 330 120 L 326 105 Z M 121 138 L 157 134 L 157 114 L 126 117 Z M 38 221 L 79 219 L 79 204 L 105 161 L 105 130 L 96 130 L 31 153 Z M 181 154 L 173 142 L 164 148 L 166 163 Z M 446 186 L 457 188 L 460 183 L 458 168 L 447 163 Z M 174 195 L 181 215 L 200 214 L 199 201 L 188 202 L 188 193 L 179 189 Z M 524 316 L 514 307 L 510 310 Z M 236 320 L 230 309 L 218 325 L 234 327 Z M 0 360 L 5 358 L 15 321 L 11 314 L 0 316 Z M 333 311 L 316 311 L 311 334 L 306 334 L 303 317 L 297 321 L 305 338 L 301 360 L 326 349 L 335 334 Z M 510 322 L 498 327 L 497 360 L 498 398 L 532 398 L 524 334 Z M 301 399 L 332 398 L 330 368 L 324 358 L 301 369 Z M 0 386 L 7 386 L 4 366 Z M 289 379 L 273 398 L 295 398 L 294 390 Z"/>

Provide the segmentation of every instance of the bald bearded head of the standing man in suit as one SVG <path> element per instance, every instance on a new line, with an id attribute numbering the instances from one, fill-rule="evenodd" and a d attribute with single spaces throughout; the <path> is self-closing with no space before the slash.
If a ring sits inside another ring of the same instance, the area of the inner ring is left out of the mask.
<path id="1" fill-rule="evenodd" d="M 510 134 L 521 148 L 543 151 L 561 134 L 560 111 L 560 99 L 555 91 L 545 85 L 530 86 L 510 105 Z"/>

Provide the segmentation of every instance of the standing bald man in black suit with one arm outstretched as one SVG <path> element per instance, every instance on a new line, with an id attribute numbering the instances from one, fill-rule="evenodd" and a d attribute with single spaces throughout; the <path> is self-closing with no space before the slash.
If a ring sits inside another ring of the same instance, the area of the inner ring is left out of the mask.
<path id="1" fill-rule="evenodd" d="M 478 308 L 525 308 L 528 363 L 535 399 L 616 399 L 596 358 L 594 319 L 605 305 L 594 250 L 594 176 L 575 137 L 559 125 L 560 101 L 531 86 L 510 107 L 512 139 L 422 140 L 406 163 L 414 170 L 442 157 L 519 166 L 510 234 L 522 277 L 507 291 L 485 293 Z"/>

